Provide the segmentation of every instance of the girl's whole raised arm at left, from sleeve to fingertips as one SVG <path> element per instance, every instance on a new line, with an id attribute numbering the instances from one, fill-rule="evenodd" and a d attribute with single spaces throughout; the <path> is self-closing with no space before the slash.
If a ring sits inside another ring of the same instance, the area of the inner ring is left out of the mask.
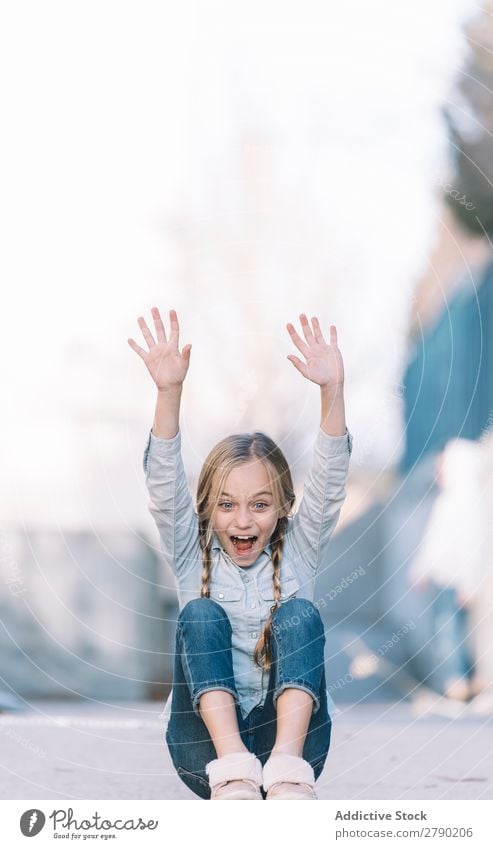
<path id="1" fill-rule="evenodd" d="M 149 510 L 159 530 L 166 562 L 176 575 L 183 575 L 193 568 L 200 554 L 197 516 L 183 469 L 179 432 L 181 394 L 192 346 L 185 345 L 180 353 L 179 324 L 174 310 L 169 314 L 169 341 L 157 307 L 153 307 L 152 315 L 156 339 L 144 318 L 138 319 L 149 350 L 145 351 L 133 339 L 128 344 L 143 359 L 157 387 L 154 422 L 144 452 Z"/>

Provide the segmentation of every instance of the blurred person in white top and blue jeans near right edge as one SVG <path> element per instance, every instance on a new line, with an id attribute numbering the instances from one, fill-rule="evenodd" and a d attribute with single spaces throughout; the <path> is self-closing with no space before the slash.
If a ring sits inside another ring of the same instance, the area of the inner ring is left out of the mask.
<path id="1" fill-rule="evenodd" d="M 443 695 L 460 701 L 485 686 L 474 634 L 488 570 L 483 453 L 479 442 L 454 438 L 437 455 L 440 492 L 409 570 L 411 584 L 429 598 L 431 681 Z"/>

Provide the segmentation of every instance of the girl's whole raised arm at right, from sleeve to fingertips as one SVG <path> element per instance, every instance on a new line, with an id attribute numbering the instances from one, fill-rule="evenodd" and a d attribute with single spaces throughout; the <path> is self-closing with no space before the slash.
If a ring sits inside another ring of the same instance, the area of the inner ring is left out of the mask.
<path id="1" fill-rule="evenodd" d="M 292 324 L 287 328 L 305 362 L 292 354 L 288 359 L 307 380 L 320 386 L 321 402 L 320 430 L 303 498 L 291 527 L 302 572 L 304 568 L 315 571 L 326 559 L 330 537 L 346 497 L 352 436 L 346 427 L 344 364 L 337 346 L 337 330 L 331 325 L 327 343 L 316 317 L 312 318 L 312 327 L 305 314 L 300 316 L 300 321 L 304 340 Z"/>

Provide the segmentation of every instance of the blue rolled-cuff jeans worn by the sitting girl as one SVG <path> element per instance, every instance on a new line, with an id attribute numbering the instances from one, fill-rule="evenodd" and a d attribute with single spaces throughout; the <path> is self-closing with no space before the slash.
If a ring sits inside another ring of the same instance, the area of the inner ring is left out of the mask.
<path id="1" fill-rule="evenodd" d="M 243 743 L 262 765 L 276 737 L 276 701 L 289 687 L 313 697 L 313 711 L 303 757 L 315 778 L 323 770 L 330 745 L 331 718 L 327 709 L 324 668 L 325 633 L 314 605 L 292 598 L 272 618 L 272 665 L 268 692 L 262 706 L 243 718 L 233 674 L 231 624 L 227 613 L 208 598 L 193 599 L 181 610 L 176 629 L 176 651 L 171 715 L 166 742 L 181 780 L 197 796 L 210 798 L 205 765 L 217 757 L 199 712 L 200 697 L 210 690 L 226 690 L 235 699 Z"/>

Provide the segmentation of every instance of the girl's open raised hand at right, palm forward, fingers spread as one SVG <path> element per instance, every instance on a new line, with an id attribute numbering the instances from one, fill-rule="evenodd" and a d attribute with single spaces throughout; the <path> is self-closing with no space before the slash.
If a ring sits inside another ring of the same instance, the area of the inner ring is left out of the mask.
<path id="1" fill-rule="evenodd" d="M 312 318 L 313 330 L 304 313 L 300 315 L 300 321 L 305 342 L 298 335 L 292 324 L 287 324 L 286 327 L 298 351 L 305 357 L 306 363 L 293 354 L 289 354 L 288 360 L 291 360 L 303 377 L 306 377 L 313 383 L 317 383 L 319 386 L 331 389 L 342 386 L 344 384 L 344 363 L 341 352 L 337 347 L 337 330 L 335 325 L 330 325 L 330 343 L 327 343 L 316 316 Z"/>

